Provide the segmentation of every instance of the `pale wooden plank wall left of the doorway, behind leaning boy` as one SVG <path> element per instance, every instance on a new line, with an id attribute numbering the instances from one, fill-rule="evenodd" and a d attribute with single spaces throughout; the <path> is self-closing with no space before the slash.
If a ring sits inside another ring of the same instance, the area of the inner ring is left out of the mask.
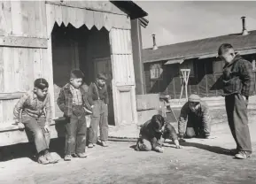
<path id="1" fill-rule="evenodd" d="M 0 2 L 0 123 L 13 123 L 12 111 L 36 78 L 50 80 L 46 12 L 43 1 Z"/>

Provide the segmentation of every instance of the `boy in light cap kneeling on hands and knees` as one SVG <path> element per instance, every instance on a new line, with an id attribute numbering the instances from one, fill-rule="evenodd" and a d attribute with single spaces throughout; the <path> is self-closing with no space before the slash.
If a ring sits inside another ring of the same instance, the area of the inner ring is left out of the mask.
<path id="1" fill-rule="evenodd" d="M 210 124 L 211 116 L 207 104 L 198 95 L 191 95 L 189 102 L 182 106 L 178 123 L 180 138 L 211 138 Z"/>

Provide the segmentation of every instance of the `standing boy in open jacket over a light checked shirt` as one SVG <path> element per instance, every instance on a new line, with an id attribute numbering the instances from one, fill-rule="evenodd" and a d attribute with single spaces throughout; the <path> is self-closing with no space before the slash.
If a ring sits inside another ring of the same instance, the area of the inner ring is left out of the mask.
<path id="1" fill-rule="evenodd" d="M 65 161 L 70 161 L 73 157 L 87 157 L 85 115 L 86 112 L 91 113 L 91 109 L 86 92 L 81 88 L 82 78 L 80 70 L 73 70 L 69 83 L 61 88 L 58 96 L 58 107 L 64 112 L 67 121 Z"/>

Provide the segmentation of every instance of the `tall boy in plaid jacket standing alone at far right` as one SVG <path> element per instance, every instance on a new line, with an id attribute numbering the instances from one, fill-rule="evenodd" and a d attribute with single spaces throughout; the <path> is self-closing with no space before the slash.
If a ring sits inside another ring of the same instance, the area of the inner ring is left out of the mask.
<path id="1" fill-rule="evenodd" d="M 225 62 L 221 79 L 229 127 L 237 143 L 235 157 L 245 159 L 252 154 L 247 117 L 247 104 L 254 87 L 252 64 L 236 54 L 229 43 L 220 46 L 218 55 Z"/>

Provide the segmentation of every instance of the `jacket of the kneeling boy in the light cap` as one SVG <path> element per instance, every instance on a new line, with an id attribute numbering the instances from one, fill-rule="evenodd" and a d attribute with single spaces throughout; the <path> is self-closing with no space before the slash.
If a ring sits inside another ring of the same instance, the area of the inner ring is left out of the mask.
<path id="1" fill-rule="evenodd" d="M 191 119 L 192 118 L 192 119 Z M 193 119 L 197 118 L 197 119 Z M 199 108 L 197 111 L 191 111 L 189 103 L 185 103 L 182 106 L 181 115 L 179 118 L 179 134 L 183 136 L 186 132 L 186 122 L 187 120 L 198 120 L 199 122 L 190 122 L 192 124 L 199 123 L 203 126 L 203 131 L 205 135 L 210 135 L 211 132 L 211 116 L 209 113 L 208 105 L 205 102 L 200 102 Z"/>

